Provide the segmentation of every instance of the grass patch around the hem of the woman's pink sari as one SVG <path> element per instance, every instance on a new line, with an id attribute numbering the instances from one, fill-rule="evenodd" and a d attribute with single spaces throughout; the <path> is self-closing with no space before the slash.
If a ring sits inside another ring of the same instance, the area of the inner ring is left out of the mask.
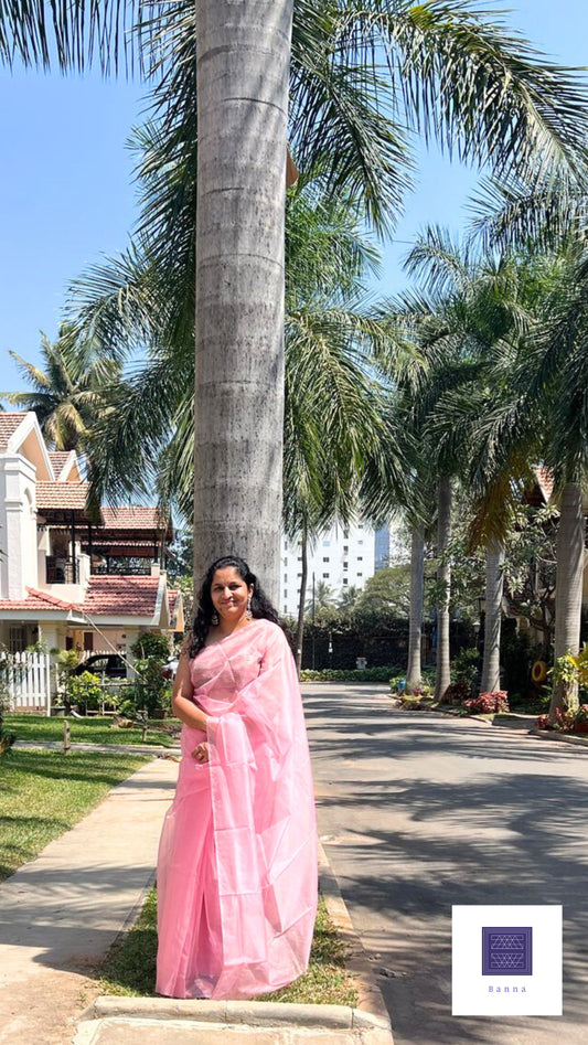
<path id="1" fill-rule="evenodd" d="M 152 889 L 136 926 L 110 949 L 100 967 L 99 988 L 106 994 L 154 995 L 157 956 L 157 893 Z M 319 900 L 310 963 L 303 977 L 261 1001 L 356 1005 L 357 991 L 345 971 L 345 945 Z"/>

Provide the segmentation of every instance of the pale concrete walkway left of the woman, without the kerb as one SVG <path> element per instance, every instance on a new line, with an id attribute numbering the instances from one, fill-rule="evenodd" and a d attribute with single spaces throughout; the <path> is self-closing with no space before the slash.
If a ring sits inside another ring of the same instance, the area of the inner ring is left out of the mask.
<path id="1" fill-rule="evenodd" d="M 0 1042 L 62 1045 L 95 988 L 87 971 L 153 882 L 178 765 L 142 766 L 0 885 Z"/>

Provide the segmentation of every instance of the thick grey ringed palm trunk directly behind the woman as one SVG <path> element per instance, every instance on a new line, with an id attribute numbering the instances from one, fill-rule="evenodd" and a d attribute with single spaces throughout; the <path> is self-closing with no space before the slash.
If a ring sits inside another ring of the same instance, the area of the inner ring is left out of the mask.
<path id="1" fill-rule="evenodd" d="M 194 574 L 239 554 L 277 601 L 293 0 L 196 0 Z"/>

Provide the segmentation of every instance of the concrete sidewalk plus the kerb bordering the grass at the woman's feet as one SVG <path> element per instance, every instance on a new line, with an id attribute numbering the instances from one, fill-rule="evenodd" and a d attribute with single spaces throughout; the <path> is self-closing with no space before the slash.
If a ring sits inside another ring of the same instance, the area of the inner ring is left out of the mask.
<path id="1" fill-rule="evenodd" d="M 142 766 L 0 885 L 2 1045 L 212 1045 L 220 1035 L 227 1045 L 392 1045 L 382 995 L 327 864 L 321 886 L 350 945 L 359 1009 L 96 998 L 87 973 L 132 925 L 153 882 L 177 774 L 169 757 Z"/>

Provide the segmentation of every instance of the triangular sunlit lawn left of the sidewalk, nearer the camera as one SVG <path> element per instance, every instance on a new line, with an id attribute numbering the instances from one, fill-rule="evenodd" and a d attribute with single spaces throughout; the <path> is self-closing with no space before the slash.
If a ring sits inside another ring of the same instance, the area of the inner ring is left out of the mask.
<path id="1" fill-rule="evenodd" d="M 0 881 L 82 820 L 147 759 L 19 750 L 0 758 Z"/>

